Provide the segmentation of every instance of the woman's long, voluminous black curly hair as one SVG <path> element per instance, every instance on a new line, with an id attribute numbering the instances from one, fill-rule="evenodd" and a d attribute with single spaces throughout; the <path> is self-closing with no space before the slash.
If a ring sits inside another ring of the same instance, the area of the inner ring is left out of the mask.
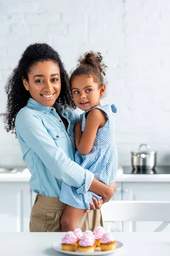
<path id="1" fill-rule="evenodd" d="M 28 73 L 31 71 L 31 67 L 38 61 L 54 61 L 58 65 L 61 78 L 61 92 L 56 102 L 65 108 L 75 108 L 71 95 L 69 76 L 59 54 L 48 44 L 31 44 L 23 52 L 17 67 L 9 76 L 5 86 L 8 96 L 6 114 L 4 116 L 5 129 L 7 132 L 11 131 L 15 135 L 15 118 L 17 113 L 27 105 L 28 99 L 31 97 L 29 91 L 23 85 L 22 78 L 24 77 L 28 81 Z"/>

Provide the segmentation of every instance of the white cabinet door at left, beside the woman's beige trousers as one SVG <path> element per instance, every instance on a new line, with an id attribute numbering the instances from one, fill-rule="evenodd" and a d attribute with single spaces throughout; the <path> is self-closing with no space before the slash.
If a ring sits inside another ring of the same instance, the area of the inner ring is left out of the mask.
<path id="1" fill-rule="evenodd" d="M 29 232 L 30 213 L 28 182 L 0 183 L 0 232 Z"/>

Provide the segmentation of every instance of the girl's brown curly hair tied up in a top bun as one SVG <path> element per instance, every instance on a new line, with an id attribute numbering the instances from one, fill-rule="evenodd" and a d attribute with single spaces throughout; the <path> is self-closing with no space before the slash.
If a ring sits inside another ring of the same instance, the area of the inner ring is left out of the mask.
<path id="1" fill-rule="evenodd" d="M 93 76 L 94 82 L 101 86 L 107 68 L 107 66 L 102 63 L 102 59 L 103 57 L 100 52 L 85 52 L 85 54 L 79 57 L 77 68 L 71 74 L 71 79 L 74 76 L 81 75 Z"/>

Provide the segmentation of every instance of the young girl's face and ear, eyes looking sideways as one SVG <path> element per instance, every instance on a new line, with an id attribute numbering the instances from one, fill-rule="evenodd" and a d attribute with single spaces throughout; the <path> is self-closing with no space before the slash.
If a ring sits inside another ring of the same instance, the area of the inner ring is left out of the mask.
<path id="1" fill-rule="evenodd" d="M 74 76 L 71 79 L 71 90 L 75 105 L 87 111 L 100 105 L 100 97 L 105 93 L 105 84 L 99 87 L 93 76 Z"/>

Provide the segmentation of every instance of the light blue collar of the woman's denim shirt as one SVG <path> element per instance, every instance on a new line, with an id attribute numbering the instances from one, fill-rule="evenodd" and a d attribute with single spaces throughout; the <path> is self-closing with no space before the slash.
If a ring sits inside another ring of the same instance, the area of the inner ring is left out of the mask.
<path id="1" fill-rule="evenodd" d="M 55 102 L 54 103 L 54 108 L 53 107 L 46 107 L 42 105 L 40 102 L 37 102 L 36 100 L 29 98 L 27 102 L 27 107 L 32 108 L 34 110 L 40 111 L 42 113 L 50 113 L 51 109 L 57 109 L 57 112 L 59 113 L 64 113 L 65 109 L 63 106 L 59 105 L 59 103 Z"/>

